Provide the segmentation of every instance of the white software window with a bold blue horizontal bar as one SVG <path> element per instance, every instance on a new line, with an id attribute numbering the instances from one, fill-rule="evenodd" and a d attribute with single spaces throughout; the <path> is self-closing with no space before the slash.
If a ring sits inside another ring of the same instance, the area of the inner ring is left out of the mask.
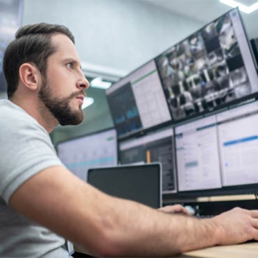
<path id="1" fill-rule="evenodd" d="M 258 102 L 217 115 L 223 186 L 258 182 Z"/>

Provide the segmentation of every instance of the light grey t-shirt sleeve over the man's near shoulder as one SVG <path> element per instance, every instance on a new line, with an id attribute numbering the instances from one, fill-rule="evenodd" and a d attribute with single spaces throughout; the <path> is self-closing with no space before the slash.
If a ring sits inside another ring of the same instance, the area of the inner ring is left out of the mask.
<path id="1" fill-rule="evenodd" d="M 46 130 L 24 110 L 3 113 L 0 127 L 0 195 L 6 203 L 26 180 L 50 166 L 62 165 Z"/>

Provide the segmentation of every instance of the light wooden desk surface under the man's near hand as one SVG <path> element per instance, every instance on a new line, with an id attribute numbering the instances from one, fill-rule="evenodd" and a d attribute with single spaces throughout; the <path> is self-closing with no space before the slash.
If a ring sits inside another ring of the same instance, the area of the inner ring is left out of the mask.
<path id="1" fill-rule="evenodd" d="M 212 248 L 204 248 L 201 250 L 185 252 L 178 258 L 257 258 L 258 257 L 258 242 L 257 243 L 242 243 L 235 246 L 214 246 Z"/>

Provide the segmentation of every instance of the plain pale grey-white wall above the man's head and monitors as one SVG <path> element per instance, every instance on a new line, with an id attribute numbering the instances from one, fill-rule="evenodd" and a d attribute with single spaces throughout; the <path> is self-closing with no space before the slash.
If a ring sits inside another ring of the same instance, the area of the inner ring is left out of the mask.
<path id="1" fill-rule="evenodd" d="M 82 62 L 127 73 L 203 26 L 141 0 L 25 0 L 23 24 L 68 26 Z"/>

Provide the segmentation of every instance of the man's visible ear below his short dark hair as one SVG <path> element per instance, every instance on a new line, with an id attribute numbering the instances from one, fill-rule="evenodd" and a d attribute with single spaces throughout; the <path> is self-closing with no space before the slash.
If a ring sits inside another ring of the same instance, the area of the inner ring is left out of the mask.
<path id="1" fill-rule="evenodd" d="M 37 90 L 41 82 L 39 69 L 30 62 L 24 62 L 19 67 L 19 78 L 28 89 Z"/>

